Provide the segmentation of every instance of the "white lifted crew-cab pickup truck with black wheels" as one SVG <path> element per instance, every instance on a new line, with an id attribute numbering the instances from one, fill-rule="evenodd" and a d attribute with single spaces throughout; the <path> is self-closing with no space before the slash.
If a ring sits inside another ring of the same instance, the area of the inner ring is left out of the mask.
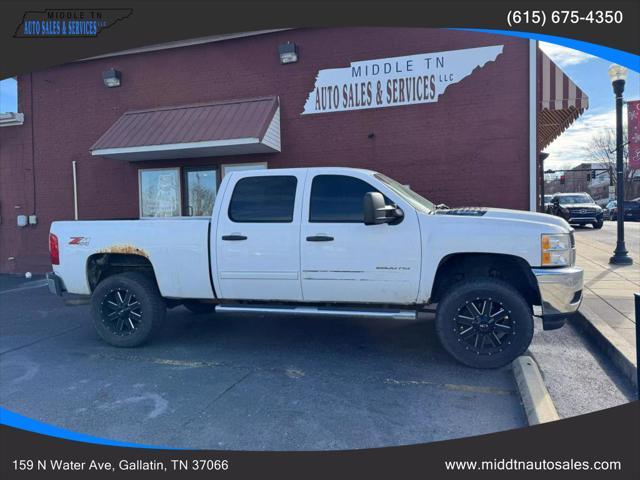
<path id="1" fill-rule="evenodd" d="M 438 210 L 380 173 L 273 169 L 224 177 L 211 218 L 51 225 L 52 292 L 91 295 L 99 335 L 148 340 L 167 308 L 414 320 L 444 348 L 503 366 L 578 309 L 571 227 L 546 214 Z"/>

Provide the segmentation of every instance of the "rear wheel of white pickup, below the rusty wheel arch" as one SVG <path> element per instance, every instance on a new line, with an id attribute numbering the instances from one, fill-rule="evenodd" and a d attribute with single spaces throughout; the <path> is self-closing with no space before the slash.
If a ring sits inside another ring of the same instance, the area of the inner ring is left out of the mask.
<path id="1" fill-rule="evenodd" d="M 91 297 L 98 335 L 116 347 L 136 347 L 153 336 L 164 323 L 166 306 L 155 282 L 127 272 L 100 282 Z"/>

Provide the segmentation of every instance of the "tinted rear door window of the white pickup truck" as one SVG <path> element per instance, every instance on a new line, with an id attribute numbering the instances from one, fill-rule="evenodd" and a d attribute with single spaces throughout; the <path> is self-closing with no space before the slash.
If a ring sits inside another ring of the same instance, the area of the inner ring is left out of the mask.
<path id="1" fill-rule="evenodd" d="M 237 223 L 291 223 L 297 183 L 292 176 L 241 179 L 233 189 L 229 219 Z"/>

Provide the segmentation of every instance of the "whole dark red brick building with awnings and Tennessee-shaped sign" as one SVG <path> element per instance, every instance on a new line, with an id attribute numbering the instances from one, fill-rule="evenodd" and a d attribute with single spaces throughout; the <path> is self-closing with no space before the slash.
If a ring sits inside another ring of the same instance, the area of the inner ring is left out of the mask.
<path id="1" fill-rule="evenodd" d="M 436 203 L 536 209 L 539 152 L 586 106 L 535 42 L 439 29 L 253 32 L 25 73 L 0 115 L 0 271 L 46 271 L 53 220 L 206 214 L 238 168 L 364 167 Z"/>

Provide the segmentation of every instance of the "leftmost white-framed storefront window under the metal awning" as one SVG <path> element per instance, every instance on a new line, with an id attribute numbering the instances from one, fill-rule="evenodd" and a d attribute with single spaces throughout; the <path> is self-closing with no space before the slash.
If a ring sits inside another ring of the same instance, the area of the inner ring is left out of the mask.
<path id="1" fill-rule="evenodd" d="M 180 215 L 180 170 L 162 168 L 139 170 L 140 216 Z"/>

